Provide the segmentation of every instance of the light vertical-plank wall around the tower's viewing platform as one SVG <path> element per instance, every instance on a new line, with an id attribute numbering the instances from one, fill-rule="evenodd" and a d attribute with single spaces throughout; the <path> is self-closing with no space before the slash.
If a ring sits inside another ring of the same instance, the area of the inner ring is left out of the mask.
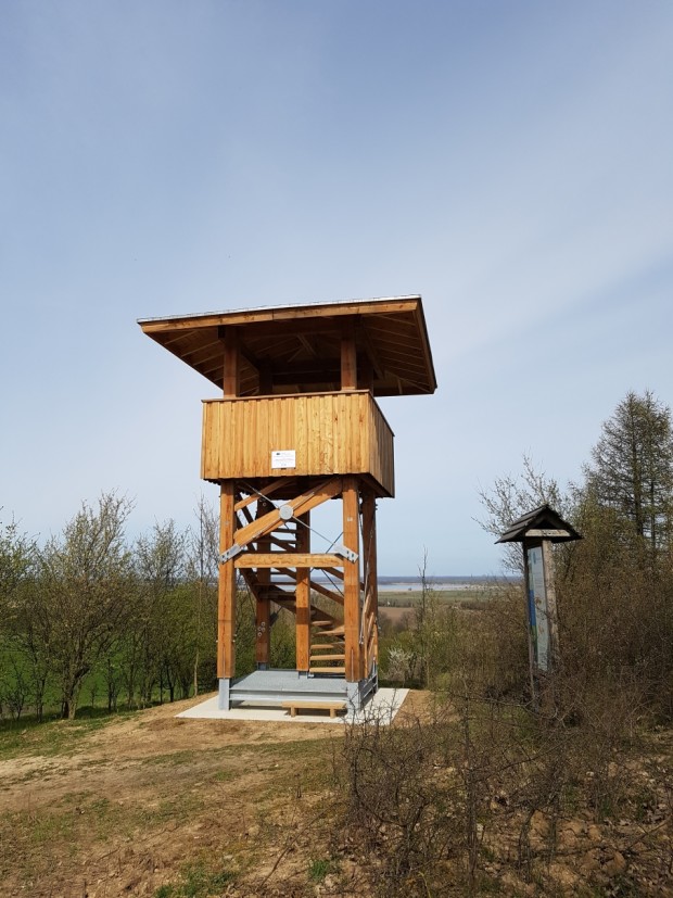
<path id="1" fill-rule="evenodd" d="M 271 452 L 294 450 L 296 467 L 271 468 Z M 207 400 L 201 477 L 368 473 L 394 493 L 393 432 L 368 390 Z"/>

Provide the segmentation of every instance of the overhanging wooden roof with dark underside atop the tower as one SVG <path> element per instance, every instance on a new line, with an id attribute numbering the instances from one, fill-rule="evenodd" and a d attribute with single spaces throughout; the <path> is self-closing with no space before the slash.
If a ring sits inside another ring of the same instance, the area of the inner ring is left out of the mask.
<path id="1" fill-rule="evenodd" d="M 358 368 L 369 363 L 376 396 L 433 393 L 436 379 L 420 296 L 269 306 L 168 318 L 141 318 L 142 331 L 223 387 L 223 339 L 234 328 L 241 352 L 240 395 L 339 390 L 341 341 L 352 324 Z"/>

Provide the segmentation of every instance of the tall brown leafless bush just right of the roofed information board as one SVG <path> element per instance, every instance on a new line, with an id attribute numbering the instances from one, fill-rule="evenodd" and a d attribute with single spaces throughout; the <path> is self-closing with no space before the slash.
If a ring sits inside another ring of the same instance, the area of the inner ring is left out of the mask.
<path id="1" fill-rule="evenodd" d="M 595 513 L 587 524 L 559 565 L 559 688 L 569 718 L 600 720 L 620 738 L 652 714 L 670 719 L 672 571 L 613 516 Z"/>

